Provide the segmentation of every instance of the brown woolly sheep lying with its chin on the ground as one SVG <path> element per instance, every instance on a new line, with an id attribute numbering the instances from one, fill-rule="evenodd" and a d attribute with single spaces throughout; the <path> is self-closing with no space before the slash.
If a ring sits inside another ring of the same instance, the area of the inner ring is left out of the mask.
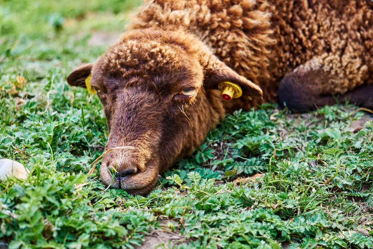
<path id="1" fill-rule="evenodd" d="M 149 193 L 159 174 L 190 154 L 226 111 L 286 102 L 306 111 L 349 99 L 373 107 L 370 0 L 153 0 L 91 74 L 109 126 L 101 180 Z M 227 101 L 217 85 L 243 95 Z M 88 82 L 89 83 L 89 82 Z M 248 98 L 250 97 L 250 98 Z"/>

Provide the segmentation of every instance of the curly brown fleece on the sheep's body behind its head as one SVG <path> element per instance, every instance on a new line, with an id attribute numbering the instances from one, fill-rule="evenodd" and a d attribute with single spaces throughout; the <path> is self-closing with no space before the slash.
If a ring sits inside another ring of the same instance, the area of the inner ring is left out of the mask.
<path id="1" fill-rule="evenodd" d="M 148 0 L 139 12 L 130 30 L 190 33 L 261 87 L 263 98 L 232 101 L 238 108 L 276 101 L 293 70 L 333 75 L 336 84 L 314 86 L 324 94 L 373 81 L 370 0 Z"/>

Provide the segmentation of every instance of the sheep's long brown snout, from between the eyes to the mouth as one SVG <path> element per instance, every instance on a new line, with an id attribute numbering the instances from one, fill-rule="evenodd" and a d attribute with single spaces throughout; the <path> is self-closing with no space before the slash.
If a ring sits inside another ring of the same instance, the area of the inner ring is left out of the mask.
<path id="1" fill-rule="evenodd" d="M 133 150 L 112 150 L 103 157 L 103 183 L 132 194 L 147 194 L 159 178 L 159 145 L 162 105 L 146 89 L 131 87 L 116 92 L 105 110 L 110 135 L 106 150 L 133 146 Z"/>

